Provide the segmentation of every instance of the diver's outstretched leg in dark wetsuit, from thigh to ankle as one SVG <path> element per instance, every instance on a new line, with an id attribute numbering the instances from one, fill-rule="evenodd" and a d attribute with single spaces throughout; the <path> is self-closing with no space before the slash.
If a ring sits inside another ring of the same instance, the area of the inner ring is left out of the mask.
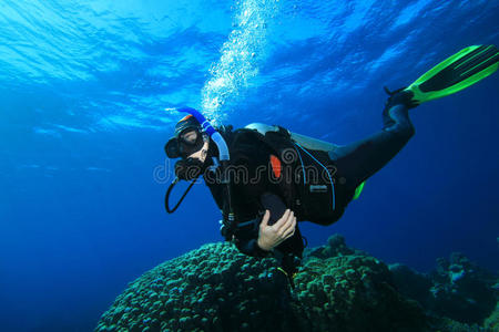
<path id="1" fill-rule="evenodd" d="M 384 127 L 365 139 L 329 152 L 337 166 L 339 180 L 349 190 L 381 169 L 415 134 L 408 106 L 389 101 L 383 111 Z"/>

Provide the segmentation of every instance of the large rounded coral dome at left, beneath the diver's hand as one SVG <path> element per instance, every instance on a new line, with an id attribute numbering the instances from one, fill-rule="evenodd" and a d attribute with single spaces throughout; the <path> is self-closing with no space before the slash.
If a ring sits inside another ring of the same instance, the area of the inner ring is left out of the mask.
<path id="1" fill-rule="evenodd" d="M 205 245 L 130 283 L 96 331 L 291 329 L 287 279 L 276 267 L 230 243 Z"/>

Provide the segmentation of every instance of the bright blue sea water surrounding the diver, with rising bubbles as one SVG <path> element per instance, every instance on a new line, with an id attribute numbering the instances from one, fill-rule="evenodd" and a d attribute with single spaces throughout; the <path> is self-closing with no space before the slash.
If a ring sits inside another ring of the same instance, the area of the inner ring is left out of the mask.
<path id="1" fill-rule="evenodd" d="M 203 185 L 164 211 L 171 108 L 346 144 L 380 128 L 384 84 L 499 44 L 497 22 L 497 0 L 2 0 L 2 331 L 89 331 L 128 282 L 222 240 Z M 497 272 L 498 86 L 414 110 L 343 219 L 301 225 L 309 246 L 340 232 L 389 263 L 461 251 Z"/>

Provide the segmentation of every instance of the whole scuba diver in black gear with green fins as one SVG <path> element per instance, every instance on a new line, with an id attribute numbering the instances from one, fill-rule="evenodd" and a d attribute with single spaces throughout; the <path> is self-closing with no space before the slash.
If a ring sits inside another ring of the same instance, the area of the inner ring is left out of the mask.
<path id="1" fill-rule="evenodd" d="M 381 169 L 415 134 L 409 110 L 454 94 L 499 66 L 493 45 L 469 46 L 429 70 L 408 87 L 390 92 L 378 133 L 345 146 L 289 133 L 281 126 L 251 124 L 216 129 L 193 108 L 165 145 L 176 178 L 165 207 L 175 211 L 203 175 L 222 211 L 221 232 L 253 257 L 275 257 L 293 278 L 305 247 L 298 221 L 328 226 L 356 199 L 365 181 Z M 174 208 L 169 199 L 179 180 L 191 180 Z"/>

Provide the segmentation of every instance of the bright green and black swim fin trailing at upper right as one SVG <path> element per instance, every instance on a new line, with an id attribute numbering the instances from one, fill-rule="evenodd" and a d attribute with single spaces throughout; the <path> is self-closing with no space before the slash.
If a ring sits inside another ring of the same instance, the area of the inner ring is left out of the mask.
<path id="1" fill-rule="evenodd" d="M 413 101 L 421 104 L 456 93 L 492 74 L 499 68 L 499 51 L 495 45 L 466 48 L 444 60 L 406 90 Z"/>

